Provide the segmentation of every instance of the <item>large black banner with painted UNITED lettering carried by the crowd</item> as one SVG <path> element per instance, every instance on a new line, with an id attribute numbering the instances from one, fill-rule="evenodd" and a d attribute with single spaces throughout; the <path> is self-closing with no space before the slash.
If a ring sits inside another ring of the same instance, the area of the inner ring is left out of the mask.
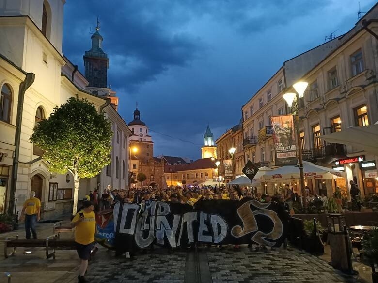
<path id="1" fill-rule="evenodd" d="M 114 224 L 108 222 L 113 233 L 104 232 L 109 231 L 108 225 L 97 219 L 96 239 L 117 251 L 147 248 L 151 244 L 187 247 L 194 242 L 277 247 L 284 241 L 287 228 L 287 215 L 281 205 L 251 198 L 199 200 L 193 207 L 160 201 L 142 206 L 117 203 L 113 218 Z"/>

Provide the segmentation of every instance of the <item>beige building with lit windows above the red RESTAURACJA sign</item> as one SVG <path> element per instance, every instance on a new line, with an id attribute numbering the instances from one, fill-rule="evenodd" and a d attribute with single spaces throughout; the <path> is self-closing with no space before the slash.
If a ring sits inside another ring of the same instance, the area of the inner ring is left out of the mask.
<path id="1" fill-rule="evenodd" d="M 325 59 L 300 78 L 309 83 L 304 98 L 299 101 L 303 159 L 346 173 L 346 178 L 337 179 L 337 182 L 310 182 L 308 185 L 315 193 L 331 195 L 337 185 L 349 194 L 350 180 L 358 184 L 362 195 L 378 191 L 375 166 L 361 166 L 363 161 L 375 163 L 375 156 L 362 149 L 319 139 L 321 135 L 351 126 L 363 127 L 377 122 L 377 33 L 378 5 L 375 5 L 337 39 L 338 46 Z M 345 160 L 349 162 L 343 162 Z"/>

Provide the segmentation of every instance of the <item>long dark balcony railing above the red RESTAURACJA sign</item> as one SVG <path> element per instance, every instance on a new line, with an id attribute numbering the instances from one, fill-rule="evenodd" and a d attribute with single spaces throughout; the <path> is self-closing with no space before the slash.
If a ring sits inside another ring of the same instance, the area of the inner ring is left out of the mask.
<path id="1" fill-rule="evenodd" d="M 314 149 L 302 151 L 303 160 L 316 161 L 326 157 L 347 156 L 347 147 L 342 144 L 326 144 Z"/>

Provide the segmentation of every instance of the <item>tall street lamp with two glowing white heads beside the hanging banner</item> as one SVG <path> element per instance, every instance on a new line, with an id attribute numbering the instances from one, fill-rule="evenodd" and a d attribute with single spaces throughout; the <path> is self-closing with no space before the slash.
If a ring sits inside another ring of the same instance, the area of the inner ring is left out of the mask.
<path id="1" fill-rule="evenodd" d="M 297 82 L 293 85 L 295 91 L 298 93 L 299 98 L 303 98 L 304 91 L 308 86 L 307 82 Z M 303 174 L 303 158 L 302 158 L 302 146 L 300 144 L 300 133 L 299 133 L 299 116 L 298 116 L 298 102 L 299 98 L 297 97 L 297 93 L 295 92 L 287 92 L 283 95 L 284 100 L 286 101 L 287 105 L 291 108 L 293 102 L 296 101 L 295 109 L 294 109 L 294 117 L 295 117 L 295 125 L 297 130 L 297 145 L 298 145 L 298 159 L 299 159 L 299 175 L 300 175 L 300 191 L 303 196 L 303 206 L 307 207 L 307 198 L 306 192 L 304 189 L 304 174 Z"/>

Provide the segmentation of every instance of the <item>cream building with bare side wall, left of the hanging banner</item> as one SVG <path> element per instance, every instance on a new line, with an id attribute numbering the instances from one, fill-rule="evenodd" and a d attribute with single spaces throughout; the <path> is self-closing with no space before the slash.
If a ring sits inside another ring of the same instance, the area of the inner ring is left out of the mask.
<path id="1" fill-rule="evenodd" d="M 274 166 L 275 153 L 270 117 L 289 113 L 282 98 L 286 86 L 296 82 L 337 45 L 336 39 L 331 40 L 285 61 L 276 74 L 242 106 L 243 148 L 246 161 Z"/>

